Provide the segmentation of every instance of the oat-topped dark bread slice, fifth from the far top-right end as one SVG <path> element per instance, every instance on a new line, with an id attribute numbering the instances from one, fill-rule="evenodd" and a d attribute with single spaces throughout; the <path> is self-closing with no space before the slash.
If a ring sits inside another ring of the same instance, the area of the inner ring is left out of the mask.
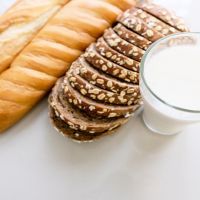
<path id="1" fill-rule="evenodd" d="M 108 60 L 110 60 L 122 67 L 125 67 L 125 68 L 130 69 L 135 72 L 139 72 L 140 63 L 138 61 L 133 60 L 133 59 L 119 53 L 118 51 L 115 51 L 114 49 L 112 49 L 105 42 L 103 37 L 98 39 L 95 46 L 96 46 L 97 52 L 101 56 L 107 58 Z"/>

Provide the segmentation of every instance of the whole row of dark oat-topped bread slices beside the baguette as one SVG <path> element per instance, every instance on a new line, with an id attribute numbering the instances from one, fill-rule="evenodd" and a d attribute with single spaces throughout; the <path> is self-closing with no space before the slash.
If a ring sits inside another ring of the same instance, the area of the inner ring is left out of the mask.
<path id="1" fill-rule="evenodd" d="M 56 129 L 74 140 L 92 141 L 126 123 L 141 105 L 145 50 L 180 31 L 188 31 L 182 20 L 161 6 L 145 3 L 126 11 L 54 87 L 49 103 Z"/>

